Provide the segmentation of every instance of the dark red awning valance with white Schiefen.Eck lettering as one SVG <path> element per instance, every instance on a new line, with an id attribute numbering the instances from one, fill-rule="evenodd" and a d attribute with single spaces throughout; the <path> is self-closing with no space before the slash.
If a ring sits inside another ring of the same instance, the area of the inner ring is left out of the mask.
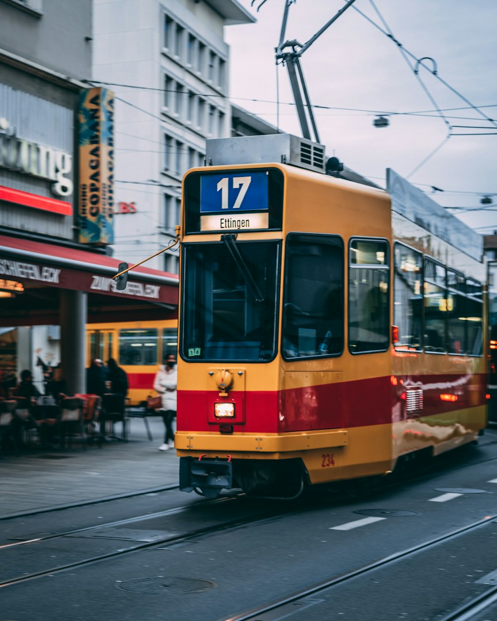
<path id="1" fill-rule="evenodd" d="M 128 299 L 164 302 L 165 304 L 177 304 L 178 302 L 178 289 L 172 286 L 128 281 L 125 291 L 117 291 L 116 282 L 111 276 L 0 257 L 0 282 L 1 279 L 7 278 L 16 278 L 22 283 L 29 281 L 33 284 L 39 283 L 41 286 L 95 292 Z"/>

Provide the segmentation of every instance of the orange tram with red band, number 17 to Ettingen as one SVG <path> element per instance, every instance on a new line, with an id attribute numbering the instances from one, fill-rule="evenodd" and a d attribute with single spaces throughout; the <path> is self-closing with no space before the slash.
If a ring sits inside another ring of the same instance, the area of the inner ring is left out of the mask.
<path id="1" fill-rule="evenodd" d="M 207 161 L 183 181 L 181 489 L 291 497 L 476 440 L 481 237 L 393 171 L 388 193 L 324 174 L 309 140 Z"/>

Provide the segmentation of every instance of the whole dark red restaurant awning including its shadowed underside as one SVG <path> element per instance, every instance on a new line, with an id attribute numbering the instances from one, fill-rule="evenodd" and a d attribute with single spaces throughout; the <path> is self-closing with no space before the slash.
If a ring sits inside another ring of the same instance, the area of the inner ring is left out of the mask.
<path id="1" fill-rule="evenodd" d="M 13 304 L 10 301 L 9 304 L 2 304 L 6 311 L 2 315 L 10 315 L 12 319 L 13 315 L 16 316 L 22 311 L 21 314 L 27 319 L 29 312 L 29 322 L 19 317 L 15 325 L 53 322 L 53 316 L 50 319 L 48 315 L 54 315 L 57 296 L 54 295 L 55 291 L 50 295 L 47 288 L 85 291 L 91 294 L 88 298 L 89 320 L 95 312 L 106 312 L 114 317 L 116 312 L 121 311 L 125 312 L 126 317 L 115 320 L 122 321 L 130 318 L 130 314 L 138 317 L 140 308 L 152 308 L 156 311 L 162 309 L 162 314 L 155 315 L 157 317 L 164 316 L 165 312 L 168 316 L 171 316 L 171 312 L 176 314 L 178 276 L 140 266 L 130 272 L 126 289 L 117 291 L 112 276 L 117 273 L 119 263 L 118 259 L 111 256 L 88 250 L 0 235 L 0 281 L 4 281 L 4 284 L 5 281 L 22 283 L 24 287 L 23 293 L 18 295 L 16 292 L 16 301 L 12 301 Z M 98 297 L 95 297 L 96 294 Z M 46 304 L 43 303 L 43 298 L 46 299 Z M 144 306 L 144 302 L 148 304 Z M 38 307 L 33 307 L 34 305 Z M 47 314 L 45 318 L 42 317 L 44 313 Z M 0 319 L 0 325 L 14 325 L 7 317 L 6 320 L 8 323 Z M 93 320 L 104 320 L 104 317 Z"/>

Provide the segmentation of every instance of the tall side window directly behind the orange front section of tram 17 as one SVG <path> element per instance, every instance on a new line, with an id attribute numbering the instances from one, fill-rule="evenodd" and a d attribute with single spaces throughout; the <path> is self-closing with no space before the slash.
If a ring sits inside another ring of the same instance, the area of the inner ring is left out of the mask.
<path id="1" fill-rule="evenodd" d="M 399 329 L 397 350 L 422 348 L 422 254 L 402 243 L 394 246 L 393 323 Z"/>

